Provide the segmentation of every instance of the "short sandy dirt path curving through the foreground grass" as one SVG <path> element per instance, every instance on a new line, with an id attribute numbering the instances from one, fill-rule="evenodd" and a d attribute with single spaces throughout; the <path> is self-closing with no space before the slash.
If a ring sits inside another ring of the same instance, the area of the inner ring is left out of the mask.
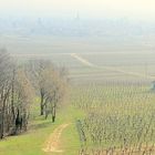
<path id="1" fill-rule="evenodd" d="M 60 138 L 62 132 L 69 126 L 69 124 L 62 124 L 54 130 L 54 132 L 50 135 L 48 141 L 42 148 L 46 153 L 62 153 L 63 151 L 60 149 Z"/>

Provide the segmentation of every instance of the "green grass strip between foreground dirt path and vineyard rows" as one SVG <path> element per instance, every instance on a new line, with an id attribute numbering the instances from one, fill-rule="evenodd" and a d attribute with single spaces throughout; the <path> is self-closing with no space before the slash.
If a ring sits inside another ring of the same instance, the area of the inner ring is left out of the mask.
<path id="1" fill-rule="evenodd" d="M 61 136 L 60 147 L 62 151 L 65 151 L 62 155 L 78 155 L 81 143 L 76 132 L 75 121 L 84 117 L 84 113 L 73 106 L 70 106 L 66 111 L 64 111 L 63 116 L 65 116 L 65 122 L 70 125 L 63 131 Z"/>

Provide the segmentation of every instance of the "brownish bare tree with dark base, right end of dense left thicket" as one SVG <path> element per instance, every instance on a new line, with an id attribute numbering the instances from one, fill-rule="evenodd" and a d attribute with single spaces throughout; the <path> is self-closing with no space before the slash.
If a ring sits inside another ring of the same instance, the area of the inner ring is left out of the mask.
<path id="1" fill-rule="evenodd" d="M 22 69 L 19 69 L 16 74 L 14 95 L 16 132 L 19 128 L 27 131 L 29 110 L 33 101 L 33 87 Z"/>

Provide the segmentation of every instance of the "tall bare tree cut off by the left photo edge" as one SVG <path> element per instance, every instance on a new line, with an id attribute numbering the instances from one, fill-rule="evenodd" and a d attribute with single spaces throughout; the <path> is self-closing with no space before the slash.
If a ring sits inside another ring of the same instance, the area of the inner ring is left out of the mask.
<path id="1" fill-rule="evenodd" d="M 4 136 L 4 124 L 9 93 L 11 90 L 11 60 L 6 49 L 0 50 L 0 138 Z"/>

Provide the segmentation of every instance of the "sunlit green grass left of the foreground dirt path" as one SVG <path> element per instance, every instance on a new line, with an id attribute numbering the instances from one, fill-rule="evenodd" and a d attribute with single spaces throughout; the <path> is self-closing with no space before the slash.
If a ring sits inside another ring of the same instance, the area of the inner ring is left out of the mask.
<path id="1" fill-rule="evenodd" d="M 41 151 L 42 144 L 56 126 L 49 123 L 45 125 L 46 123 L 43 123 L 42 128 L 37 127 L 23 135 L 8 137 L 0 142 L 0 155 L 44 155 Z"/>

